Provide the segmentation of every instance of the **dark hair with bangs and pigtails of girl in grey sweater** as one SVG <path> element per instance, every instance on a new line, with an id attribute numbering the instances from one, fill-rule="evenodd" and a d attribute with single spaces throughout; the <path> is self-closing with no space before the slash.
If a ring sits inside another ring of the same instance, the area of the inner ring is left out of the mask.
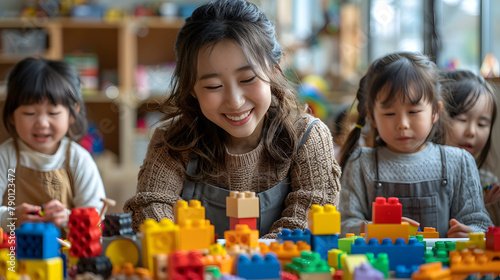
<path id="1" fill-rule="evenodd" d="M 427 140 L 436 143 L 444 143 L 446 140 L 446 134 L 440 127 L 445 127 L 448 118 L 444 110 L 439 110 L 441 92 L 436 64 L 419 53 L 392 53 L 375 60 L 359 82 L 356 100 L 353 103 L 353 106 L 357 103 L 359 127 L 351 131 L 342 147 L 340 152 L 342 168 L 358 146 L 361 127 L 366 123 L 367 114 L 370 113 L 373 119 L 375 100 L 381 92 L 387 93 L 382 100 L 383 105 L 389 105 L 397 98 L 402 98 L 403 101 L 408 99 L 412 104 L 417 104 L 422 99 L 430 102 L 433 113 L 439 112 L 439 120 L 433 125 Z M 373 139 L 369 140 L 375 143 L 375 147 L 385 145 L 382 139 L 377 139 L 377 136 L 375 130 Z"/>

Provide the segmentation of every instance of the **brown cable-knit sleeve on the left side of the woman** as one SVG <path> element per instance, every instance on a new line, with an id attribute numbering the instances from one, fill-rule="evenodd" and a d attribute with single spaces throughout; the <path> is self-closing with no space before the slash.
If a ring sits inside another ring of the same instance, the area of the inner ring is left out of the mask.
<path id="1" fill-rule="evenodd" d="M 132 228 L 136 232 L 149 218 L 173 220 L 173 206 L 181 200 L 185 174 L 177 161 L 169 159 L 167 149 L 161 145 L 163 139 L 164 130 L 156 129 L 139 171 L 137 193 L 123 207 L 132 215 Z M 187 156 L 183 159 L 185 163 L 189 160 Z"/>

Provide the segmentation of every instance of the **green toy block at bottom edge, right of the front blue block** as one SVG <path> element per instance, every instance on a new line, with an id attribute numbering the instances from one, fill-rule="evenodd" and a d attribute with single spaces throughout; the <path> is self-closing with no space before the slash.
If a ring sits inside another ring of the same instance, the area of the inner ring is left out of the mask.
<path id="1" fill-rule="evenodd" d="M 285 271 L 296 274 L 299 279 L 331 279 L 331 269 L 327 261 L 312 251 L 302 251 L 300 258 L 293 258 L 287 263 Z M 325 278 L 326 277 L 326 278 Z"/>

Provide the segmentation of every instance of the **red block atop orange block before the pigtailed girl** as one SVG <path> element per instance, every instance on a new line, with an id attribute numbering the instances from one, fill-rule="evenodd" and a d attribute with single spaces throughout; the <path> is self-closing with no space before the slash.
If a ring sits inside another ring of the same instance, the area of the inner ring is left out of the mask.
<path id="1" fill-rule="evenodd" d="M 403 205 L 397 197 L 377 197 L 372 204 L 372 221 L 374 224 L 400 224 L 403 216 Z"/>

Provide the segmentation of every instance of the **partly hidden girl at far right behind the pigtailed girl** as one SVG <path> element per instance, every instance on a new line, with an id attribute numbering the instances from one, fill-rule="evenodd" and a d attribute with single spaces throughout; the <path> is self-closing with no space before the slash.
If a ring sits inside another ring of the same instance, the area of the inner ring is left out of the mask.
<path id="1" fill-rule="evenodd" d="M 493 185 L 484 192 L 484 203 L 496 226 L 500 226 L 500 187 L 498 178 L 483 169 L 490 153 L 491 132 L 497 116 L 493 87 L 482 77 L 466 70 L 441 72 L 445 105 L 452 117 L 446 144 L 466 149 L 476 158 L 481 186 Z"/>

